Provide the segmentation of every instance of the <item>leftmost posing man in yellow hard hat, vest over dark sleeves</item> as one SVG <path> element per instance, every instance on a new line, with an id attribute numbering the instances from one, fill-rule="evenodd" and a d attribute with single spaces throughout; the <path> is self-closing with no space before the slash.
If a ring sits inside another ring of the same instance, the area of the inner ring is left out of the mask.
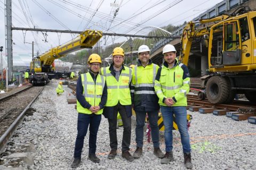
<path id="1" fill-rule="evenodd" d="M 107 101 L 106 78 L 99 74 L 101 58 L 98 54 L 89 56 L 89 72 L 81 74 L 77 80 L 77 137 L 75 143 L 74 161 L 71 167 L 77 167 L 81 162 L 84 137 L 90 125 L 89 132 L 89 159 L 93 163 L 99 163 L 100 159 L 95 155 L 97 133 L 101 121 L 103 107 Z"/>

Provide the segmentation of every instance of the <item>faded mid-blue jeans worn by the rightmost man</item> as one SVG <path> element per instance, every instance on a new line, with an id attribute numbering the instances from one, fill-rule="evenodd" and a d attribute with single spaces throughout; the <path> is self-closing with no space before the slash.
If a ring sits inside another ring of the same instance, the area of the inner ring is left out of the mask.
<path id="1" fill-rule="evenodd" d="M 164 120 L 164 138 L 165 138 L 165 151 L 172 151 L 172 127 L 173 115 L 175 115 L 175 122 L 178 125 L 180 132 L 182 149 L 184 153 L 190 152 L 189 134 L 187 126 L 187 109 L 185 106 L 161 106 L 161 112 Z"/>

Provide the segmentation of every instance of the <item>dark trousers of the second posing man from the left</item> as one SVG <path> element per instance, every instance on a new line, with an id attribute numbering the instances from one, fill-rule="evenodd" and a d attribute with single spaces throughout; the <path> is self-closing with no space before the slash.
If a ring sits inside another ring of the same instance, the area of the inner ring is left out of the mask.
<path id="1" fill-rule="evenodd" d="M 123 121 L 123 140 L 122 140 L 122 151 L 128 151 L 131 143 L 131 117 L 127 117 L 125 106 L 121 105 L 119 102 L 114 107 L 114 118 L 108 119 L 109 124 L 109 139 L 110 148 L 117 149 L 117 136 L 116 136 L 116 123 L 117 123 L 117 112 L 122 117 Z"/>

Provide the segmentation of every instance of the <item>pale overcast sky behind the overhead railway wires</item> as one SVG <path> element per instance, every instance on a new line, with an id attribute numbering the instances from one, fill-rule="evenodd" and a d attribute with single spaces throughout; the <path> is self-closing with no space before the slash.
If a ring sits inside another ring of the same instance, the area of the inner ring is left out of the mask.
<path id="1" fill-rule="evenodd" d="M 168 24 L 182 24 L 220 2 L 222 0 L 14 0 L 12 27 L 74 31 L 95 29 L 103 32 L 134 34 L 149 25 L 163 27 Z M 118 12 L 116 12 L 117 8 L 119 8 Z M 115 18 L 114 14 L 116 14 Z M 0 0 L 0 46 L 5 48 L 4 19 L 4 0 Z M 77 36 L 51 32 L 47 32 L 47 35 L 48 43 L 45 43 L 42 32 L 13 30 L 13 53 L 31 54 L 31 44 L 27 43 L 32 41 L 37 43 L 34 52 L 38 50 L 39 53 L 44 53 Z M 123 39 L 116 39 L 115 43 Z M 107 44 L 112 43 L 112 39 L 108 38 Z"/>

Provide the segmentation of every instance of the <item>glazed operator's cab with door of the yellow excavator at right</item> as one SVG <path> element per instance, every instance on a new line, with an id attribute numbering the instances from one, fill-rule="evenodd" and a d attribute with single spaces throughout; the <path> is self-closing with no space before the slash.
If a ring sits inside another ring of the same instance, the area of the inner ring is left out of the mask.
<path id="1" fill-rule="evenodd" d="M 241 64 L 241 33 L 238 21 L 221 22 L 210 31 L 210 67 Z"/>

